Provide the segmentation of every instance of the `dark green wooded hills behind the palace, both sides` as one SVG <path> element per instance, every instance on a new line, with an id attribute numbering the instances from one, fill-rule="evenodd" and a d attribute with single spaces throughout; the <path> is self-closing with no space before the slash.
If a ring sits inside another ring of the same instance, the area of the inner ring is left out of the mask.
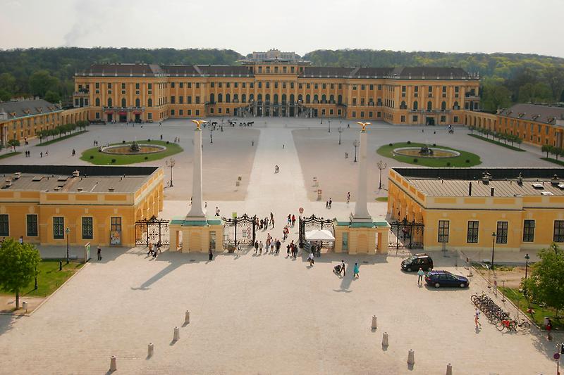
<path id="1" fill-rule="evenodd" d="M 70 103 L 73 75 L 92 63 L 235 65 L 243 55 L 226 49 L 52 48 L 0 50 L 0 101 L 37 95 Z M 446 53 L 317 50 L 305 60 L 320 66 L 449 66 L 482 77 L 482 108 L 512 103 L 564 102 L 564 58 L 524 53 Z"/>

